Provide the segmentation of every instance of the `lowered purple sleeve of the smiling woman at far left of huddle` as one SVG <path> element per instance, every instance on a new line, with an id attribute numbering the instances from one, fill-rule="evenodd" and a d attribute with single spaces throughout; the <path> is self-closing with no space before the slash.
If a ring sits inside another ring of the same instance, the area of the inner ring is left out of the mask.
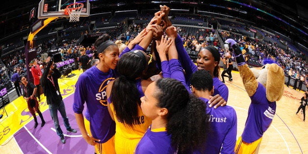
<path id="1" fill-rule="evenodd" d="M 77 114 L 81 114 L 84 108 L 85 96 L 87 95 L 87 86 L 85 82 L 78 78 L 76 82 L 76 90 L 74 94 L 73 111 Z"/>

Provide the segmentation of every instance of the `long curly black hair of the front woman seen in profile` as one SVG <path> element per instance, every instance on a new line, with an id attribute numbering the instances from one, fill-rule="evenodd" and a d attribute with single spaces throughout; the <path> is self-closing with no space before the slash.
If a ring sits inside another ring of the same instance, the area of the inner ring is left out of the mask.
<path id="1" fill-rule="evenodd" d="M 171 143 L 180 153 L 202 151 L 209 124 L 205 112 L 205 103 L 189 95 L 180 81 L 173 78 L 161 78 L 155 83 L 158 90 L 154 97 L 157 106 L 168 109 L 167 132 L 171 134 Z"/>

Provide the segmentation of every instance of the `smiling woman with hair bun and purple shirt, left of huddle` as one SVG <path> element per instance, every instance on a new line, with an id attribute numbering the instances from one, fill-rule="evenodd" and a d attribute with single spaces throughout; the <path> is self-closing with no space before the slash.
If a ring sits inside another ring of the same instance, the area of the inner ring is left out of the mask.
<path id="1" fill-rule="evenodd" d="M 115 154 L 115 123 L 106 107 L 105 87 L 116 77 L 114 69 L 119 61 L 119 48 L 109 39 L 108 34 L 103 34 L 95 41 L 100 62 L 80 75 L 74 95 L 73 110 L 78 127 L 84 140 L 95 146 L 97 154 Z M 85 120 L 82 114 L 84 103 L 87 104 Z"/>

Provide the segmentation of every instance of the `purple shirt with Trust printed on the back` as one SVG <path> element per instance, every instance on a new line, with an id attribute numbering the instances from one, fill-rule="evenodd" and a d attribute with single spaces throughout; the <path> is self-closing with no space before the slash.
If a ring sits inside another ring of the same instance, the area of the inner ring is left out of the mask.
<path id="1" fill-rule="evenodd" d="M 236 112 L 231 106 L 214 109 L 208 107 L 208 100 L 200 98 L 206 104 L 211 131 L 205 141 L 205 154 L 234 154 L 237 132 Z"/>

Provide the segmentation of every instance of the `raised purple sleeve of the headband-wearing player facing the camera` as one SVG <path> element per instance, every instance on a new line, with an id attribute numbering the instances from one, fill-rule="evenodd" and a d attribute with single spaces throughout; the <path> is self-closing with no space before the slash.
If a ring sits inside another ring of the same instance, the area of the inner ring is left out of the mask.
<path id="1" fill-rule="evenodd" d="M 192 62 L 190 59 L 187 51 L 185 50 L 183 46 L 183 41 L 180 38 L 180 35 L 178 34 L 178 37 L 176 38 L 176 47 L 179 54 L 179 60 L 180 63 L 183 66 L 183 69 L 186 72 L 186 77 L 190 78 L 190 76 L 197 71 L 197 66 Z"/>

